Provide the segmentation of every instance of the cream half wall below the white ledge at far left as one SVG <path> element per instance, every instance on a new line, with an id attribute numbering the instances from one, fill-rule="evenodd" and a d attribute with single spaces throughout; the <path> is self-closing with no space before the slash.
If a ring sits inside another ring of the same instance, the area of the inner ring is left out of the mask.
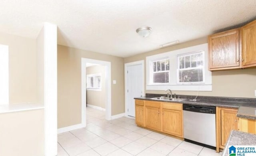
<path id="1" fill-rule="evenodd" d="M 0 114 L 0 156 L 44 156 L 44 110 Z"/>

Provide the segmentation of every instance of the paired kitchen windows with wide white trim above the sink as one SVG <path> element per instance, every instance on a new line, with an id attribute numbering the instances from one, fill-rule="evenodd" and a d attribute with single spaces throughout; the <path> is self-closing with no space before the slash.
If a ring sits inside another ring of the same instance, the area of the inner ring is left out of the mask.
<path id="1" fill-rule="evenodd" d="M 212 91 L 208 44 L 146 57 L 146 90 Z"/>

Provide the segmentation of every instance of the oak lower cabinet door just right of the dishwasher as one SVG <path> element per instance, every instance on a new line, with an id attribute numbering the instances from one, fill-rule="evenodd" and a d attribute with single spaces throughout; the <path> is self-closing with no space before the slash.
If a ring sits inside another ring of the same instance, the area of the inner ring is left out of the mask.
<path id="1" fill-rule="evenodd" d="M 220 108 L 220 146 L 224 148 L 232 130 L 238 130 L 237 109 Z"/>

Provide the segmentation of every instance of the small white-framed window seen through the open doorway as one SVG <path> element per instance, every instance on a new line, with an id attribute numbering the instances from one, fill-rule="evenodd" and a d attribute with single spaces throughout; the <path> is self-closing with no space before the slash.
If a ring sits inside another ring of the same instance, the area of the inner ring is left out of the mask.
<path id="1" fill-rule="evenodd" d="M 96 77 L 100 77 L 100 87 L 98 87 L 98 82 L 96 83 Z M 91 79 L 93 80 L 93 86 L 91 86 Z M 101 89 L 102 89 L 101 73 L 87 74 L 86 75 L 86 90 L 88 90 L 88 91 L 101 91 Z"/>

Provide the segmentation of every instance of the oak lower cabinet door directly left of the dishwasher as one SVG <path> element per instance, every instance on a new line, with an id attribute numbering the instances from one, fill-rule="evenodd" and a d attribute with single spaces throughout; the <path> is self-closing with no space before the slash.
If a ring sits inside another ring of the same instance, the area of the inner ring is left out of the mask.
<path id="1" fill-rule="evenodd" d="M 163 132 L 183 137 L 182 111 L 162 109 Z"/>

